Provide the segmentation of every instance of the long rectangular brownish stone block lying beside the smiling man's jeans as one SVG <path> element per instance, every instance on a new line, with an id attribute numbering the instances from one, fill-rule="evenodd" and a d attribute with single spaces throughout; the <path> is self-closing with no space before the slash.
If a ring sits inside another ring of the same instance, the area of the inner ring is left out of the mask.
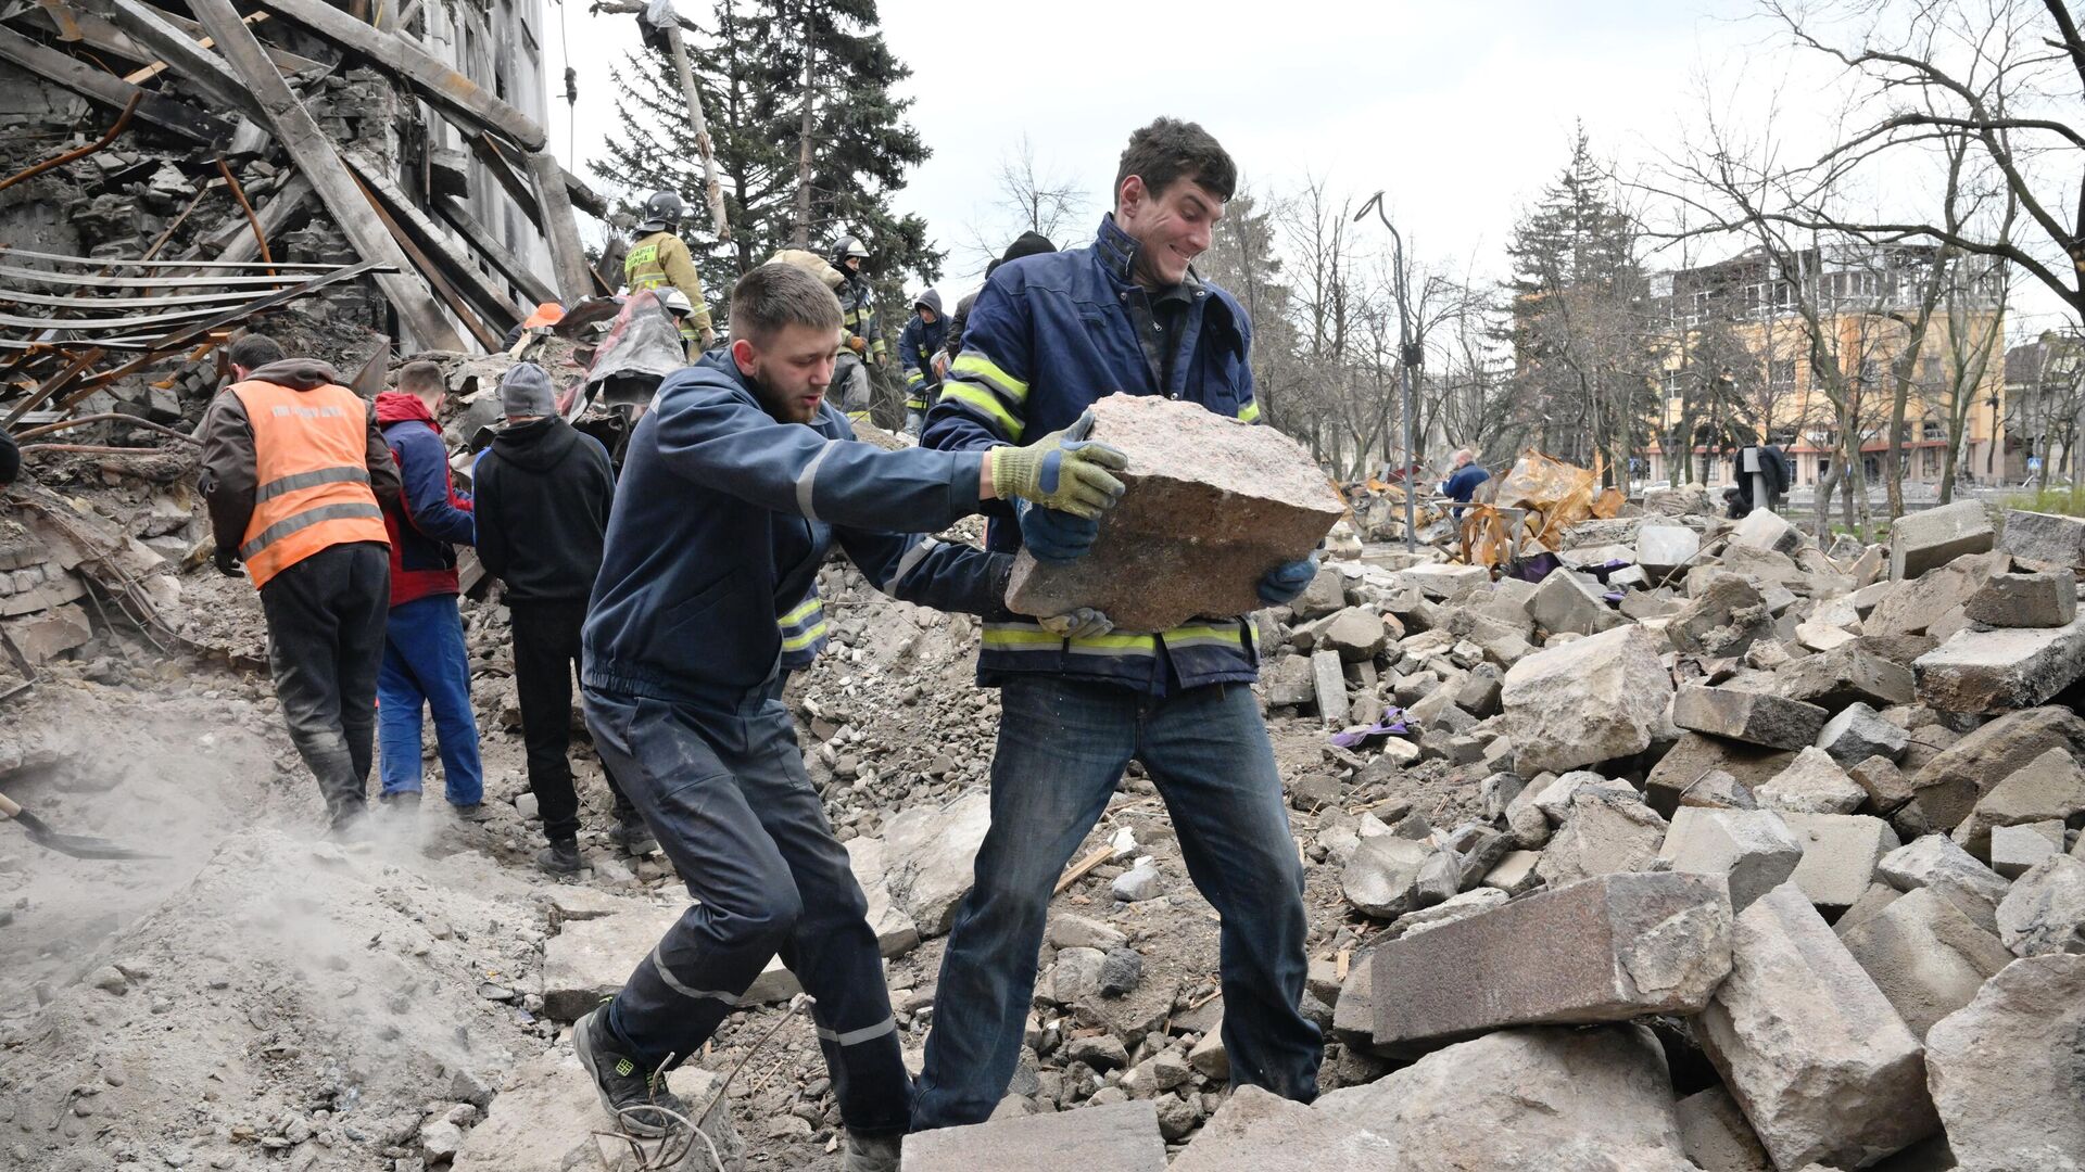
<path id="1" fill-rule="evenodd" d="M 1695 1014 L 1731 972 L 1720 876 L 1612 874 L 1376 949 L 1374 1043 L 1424 1051 L 1501 1026 Z"/>

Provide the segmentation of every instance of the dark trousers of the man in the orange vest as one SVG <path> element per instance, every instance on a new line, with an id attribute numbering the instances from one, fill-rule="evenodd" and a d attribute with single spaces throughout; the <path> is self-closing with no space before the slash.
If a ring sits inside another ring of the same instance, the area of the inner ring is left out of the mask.
<path id="1" fill-rule="evenodd" d="M 290 740 L 338 828 L 369 807 L 390 548 L 321 548 L 261 588 L 267 661 Z"/>

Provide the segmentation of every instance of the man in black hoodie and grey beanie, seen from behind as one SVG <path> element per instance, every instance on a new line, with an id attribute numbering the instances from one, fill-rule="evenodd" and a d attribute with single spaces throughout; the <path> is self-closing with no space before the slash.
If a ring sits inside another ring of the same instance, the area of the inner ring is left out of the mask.
<path id="1" fill-rule="evenodd" d="M 507 428 L 477 457 L 477 561 L 507 590 L 515 632 L 515 688 L 528 740 L 528 784 L 536 790 L 550 847 L 536 865 L 550 874 L 580 870 L 580 797 L 571 784 L 571 669 L 580 661 L 586 596 L 600 571 L 615 473 L 609 453 L 559 419 L 550 375 L 521 363 L 500 380 Z M 657 851 L 644 817 L 615 784 L 617 830 L 632 855 Z"/>

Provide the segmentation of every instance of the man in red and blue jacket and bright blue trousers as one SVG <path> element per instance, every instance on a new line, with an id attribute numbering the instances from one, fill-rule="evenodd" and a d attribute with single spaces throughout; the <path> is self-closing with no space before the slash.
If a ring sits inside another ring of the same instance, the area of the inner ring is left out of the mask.
<path id="1" fill-rule="evenodd" d="M 377 423 L 398 461 L 404 492 L 384 509 L 392 538 L 392 605 L 377 674 L 377 747 L 384 790 L 377 801 L 419 805 L 421 709 L 434 709 L 448 805 L 475 817 L 484 801 L 477 763 L 477 713 L 471 711 L 471 659 L 457 611 L 457 544 L 471 544 L 471 498 L 448 473 L 448 446 L 436 413 L 442 369 L 407 363 L 398 390 L 377 396 Z"/>

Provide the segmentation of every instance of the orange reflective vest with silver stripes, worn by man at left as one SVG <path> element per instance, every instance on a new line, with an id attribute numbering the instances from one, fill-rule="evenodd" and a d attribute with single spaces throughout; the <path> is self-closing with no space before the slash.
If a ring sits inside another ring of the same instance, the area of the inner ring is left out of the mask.
<path id="1" fill-rule="evenodd" d="M 231 394 L 254 430 L 254 515 L 240 538 L 254 588 L 325 546 L 390 544 L 369 490 L 369 405 L 359 394 L 271 382 L 234 384 Z"/>

